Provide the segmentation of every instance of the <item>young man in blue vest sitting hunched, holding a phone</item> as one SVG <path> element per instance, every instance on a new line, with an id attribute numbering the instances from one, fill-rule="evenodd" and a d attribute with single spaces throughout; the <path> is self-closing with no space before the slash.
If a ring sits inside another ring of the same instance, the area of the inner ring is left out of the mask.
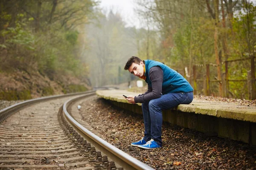
<path id="1" fill-rule="evenodd" d="M 125 98 L 132 104 L 142 103 L 145 126 L 144 137 L 131 145 L 144 149 L 161 147 L 162 110 L 191 103 L 193 88 L 177 71 L 154 60 L 142 61 L 133 56 L 125 64 L 125 70 L 144 79 L 148 84 L 148 91 L 144 94 Z"/>

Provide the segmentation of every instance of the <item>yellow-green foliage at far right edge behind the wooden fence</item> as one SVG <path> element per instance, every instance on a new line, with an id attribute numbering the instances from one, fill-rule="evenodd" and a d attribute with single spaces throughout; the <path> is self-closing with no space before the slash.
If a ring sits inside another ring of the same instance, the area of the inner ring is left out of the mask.
<path id="1" fill-rule="evenodd" d="M 243 1 L 241 10 L 232 20 L 230 36 L 230 59 L 256 55 L 256 6 Z M 250 71 L 250 60 L 229 64 L 229 79 L 247 79 Z M 247 82 L 230 82 L 229 88 L 235 98 L 248 98 Z"/>

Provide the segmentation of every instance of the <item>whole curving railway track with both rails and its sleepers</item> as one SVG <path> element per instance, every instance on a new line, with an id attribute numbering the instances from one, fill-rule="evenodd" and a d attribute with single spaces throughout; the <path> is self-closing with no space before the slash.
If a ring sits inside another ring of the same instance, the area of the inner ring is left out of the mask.
<path id="1" fill-rule="evenodd" d="M 1 110 L 0 169 L 151 170 L 68 113 L 73 102 L 94 94 L 33 99 Z"/>

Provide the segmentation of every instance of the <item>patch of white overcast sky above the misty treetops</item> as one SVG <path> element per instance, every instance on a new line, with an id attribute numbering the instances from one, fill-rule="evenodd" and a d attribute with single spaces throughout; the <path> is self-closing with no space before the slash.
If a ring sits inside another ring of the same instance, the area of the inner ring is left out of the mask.
<path id="1" fill-rule="evenodd" d="M 127 26 L 136 26 L 140 28 L 140 21 L 134 12 L 136 7 L 135 0 L 101 0 L 100 6 L 109 11 L 113 9 L 114 12 L 119 12 L 121 14 Z"/>

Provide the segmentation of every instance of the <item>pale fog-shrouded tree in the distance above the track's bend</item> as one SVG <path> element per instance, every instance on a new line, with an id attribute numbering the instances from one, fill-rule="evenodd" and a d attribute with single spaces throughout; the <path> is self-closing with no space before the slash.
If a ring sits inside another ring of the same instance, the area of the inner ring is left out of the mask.
<path id="1" fill-rule="evenodd" d="M 102 14 L 99 22 L 88 25 L 88 48 L 84 59 L 90 62 L 90 79 L 94 86 L 113 85 L 128 82 L 128 72 L 121 69 L 132 55 L 137 54 L 135 28 L 125 28 L 125 23 L 118 13 L 112 11 Z M 97 66 L 97 67 L 96 67 Z M 121 75 L 121 78 L 119 77 Z"/>

